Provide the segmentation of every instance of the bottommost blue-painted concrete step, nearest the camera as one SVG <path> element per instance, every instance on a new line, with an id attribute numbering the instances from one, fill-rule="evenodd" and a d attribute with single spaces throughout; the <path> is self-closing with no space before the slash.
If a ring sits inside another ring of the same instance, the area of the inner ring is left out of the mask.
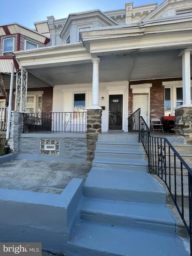
<path id="1" fill-rule="evenodd" d="M 77 224 L 69 245 L 71 256 L 189 256 L 179 236 L 89 221 Z"/>

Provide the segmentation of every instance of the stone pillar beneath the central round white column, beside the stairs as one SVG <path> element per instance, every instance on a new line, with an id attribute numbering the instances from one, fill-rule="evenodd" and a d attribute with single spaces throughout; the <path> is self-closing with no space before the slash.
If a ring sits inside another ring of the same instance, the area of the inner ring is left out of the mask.
<path id="1" fill-rule="evenodd" d="M 102 110 L 87 110 L 87 161 L 93 161 L 95 157 L 98 134 L 101 133 Z"/>

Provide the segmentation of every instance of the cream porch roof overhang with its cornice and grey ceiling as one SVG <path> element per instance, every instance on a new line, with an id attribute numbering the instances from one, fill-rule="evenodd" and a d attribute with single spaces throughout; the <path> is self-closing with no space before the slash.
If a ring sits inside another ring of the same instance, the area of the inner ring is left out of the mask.
<path id="1" fill-rule="evenodd" d="M 85 29 L 82 43 L 14 53 L 20 67 L 52 85 L 182 77 L 182 50 L 192 47 L 192 16 L 137 25 Z M 192 74 L 192 70 L 191 70 Z"/>

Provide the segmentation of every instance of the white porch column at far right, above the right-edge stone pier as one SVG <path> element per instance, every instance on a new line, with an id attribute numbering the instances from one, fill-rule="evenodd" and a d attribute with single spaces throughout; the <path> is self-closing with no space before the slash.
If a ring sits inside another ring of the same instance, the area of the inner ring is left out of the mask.
<path id="1" fill-rule="evenodd" d="M 190 51 L 182 54 L 183 69 L 183 105 L 191 104 L 191 85 L 190 85 Z"/>

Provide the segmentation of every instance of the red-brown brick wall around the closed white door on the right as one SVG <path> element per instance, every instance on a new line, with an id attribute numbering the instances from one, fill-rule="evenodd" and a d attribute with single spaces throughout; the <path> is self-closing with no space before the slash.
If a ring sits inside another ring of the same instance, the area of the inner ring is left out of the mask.
<path id="1" fill-rule="evenodd" d="M 143 83 L 151 83 L 152 87 L 150 88 L 150 116 L 149 118 L 160 118 L 163 120 L 164 116 L 164 86 L 162 82 L 164 81 L 176 81 L 182 80 L 182 78 L 177 79 L 157 79 L 157 80 L 141 80 L 141 81 L 131 81 L 129 82 L 129 111 L 128 116 L 133 113 L 133 94 L 132 89 L 130 89 L 131 85 L 134 84 L 143 84 Z"/>

